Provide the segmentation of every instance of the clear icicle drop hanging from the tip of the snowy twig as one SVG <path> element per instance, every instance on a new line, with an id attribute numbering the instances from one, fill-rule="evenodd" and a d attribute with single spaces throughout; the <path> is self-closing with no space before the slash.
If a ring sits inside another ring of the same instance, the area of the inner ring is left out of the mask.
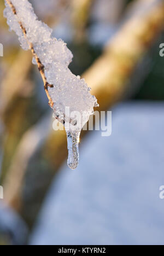
<path id="1" fill-rule="evenodd" d="M 67 143 L 68 143 L 68 166 L 72 170 L 79 165 L 79 138 L 80 132 L 73 134 L 72 132 L 67 132 Z"/>

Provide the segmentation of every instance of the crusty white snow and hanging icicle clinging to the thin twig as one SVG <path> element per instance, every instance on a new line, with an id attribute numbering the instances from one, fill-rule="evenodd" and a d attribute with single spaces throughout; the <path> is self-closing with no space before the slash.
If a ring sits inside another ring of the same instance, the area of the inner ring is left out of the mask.
<path id="1" fill-rule="evenodd" d="M 79 136 L 83 125 L 93 114 L 93 107 L 97 107 L 95 96 L 90 94 L 84 79 L 74 75 L 68 68 L 72 61 L 72 53 L 67 48 L 65 42 L 52 37 L 52 30 L 42 21 L 39 21 L 31 3 L 27 0 L 11 0 L 16 14 L 14 15 L 11 8 L 5 2 L 6 8 L 4 16 L 7 18 L 10 30 L 14 30 L 19 37 L 23 49 L 28 50 L 27 40 L 22 33 L 18 21 L 26 28 L 28 42 L 33 44 L 40 61 L 45 67 L 45 75 L 49 84 L 54 88 L 49 88 L 49 94 L 54 102 L 54 112 L 58 113 L 58 118 L 65 119 L 65 108 L 69 107 L 70 112 L 85 113 L 81 127 L 77 131 L 67 131 L 68 141 L 68 166 L 75 169 L 79 160 Z M 36 64 L 36 61 L 33 60 Z M 71 123 L 71 120 L 70 120 Z"/>

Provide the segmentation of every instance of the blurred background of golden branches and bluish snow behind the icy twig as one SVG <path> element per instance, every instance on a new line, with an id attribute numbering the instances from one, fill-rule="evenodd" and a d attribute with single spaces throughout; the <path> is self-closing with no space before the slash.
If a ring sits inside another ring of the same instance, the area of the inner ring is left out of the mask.
<path id="1" fill-rule="evenodd" d="M 30 51 L 9 32 L 0 0 L 0 245 L 164 245 L 163 0 L 31 0 L 69 66 L 112 110 L 113 132 L 83 132 L 67 167 L 66 134 Z"/>

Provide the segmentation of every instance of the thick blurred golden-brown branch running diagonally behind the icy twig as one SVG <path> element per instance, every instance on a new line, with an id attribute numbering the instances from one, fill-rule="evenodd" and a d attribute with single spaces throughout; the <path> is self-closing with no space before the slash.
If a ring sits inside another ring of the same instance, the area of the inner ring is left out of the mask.
<path id="1" fill-rule="evenodd" d="M 103 54 L 83 74 L 91 93 L 98 98 L 99 110 L 109 109 L 124 97 L 136 66 L 163 30 L 163 1 L 139 0 L 136 4 L 142 10 L 145 3 L 153 2 L 153 8 L 141 15 L 134 13 L 125 21 Z M 53 131 L 45 144 L 44 155 L 53 166 L 60 167 L 66 158 L 65 141 L 65 132 Z"/>

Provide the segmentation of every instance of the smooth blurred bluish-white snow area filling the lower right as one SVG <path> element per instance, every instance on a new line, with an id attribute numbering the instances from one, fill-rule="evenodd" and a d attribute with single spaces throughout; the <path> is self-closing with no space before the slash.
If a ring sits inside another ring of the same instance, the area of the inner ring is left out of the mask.
<path id="1" fill-rule="evenodd" d="M 52 182 L 32 245 L 164 245 L 164 103 L 123 103 Z"/>

